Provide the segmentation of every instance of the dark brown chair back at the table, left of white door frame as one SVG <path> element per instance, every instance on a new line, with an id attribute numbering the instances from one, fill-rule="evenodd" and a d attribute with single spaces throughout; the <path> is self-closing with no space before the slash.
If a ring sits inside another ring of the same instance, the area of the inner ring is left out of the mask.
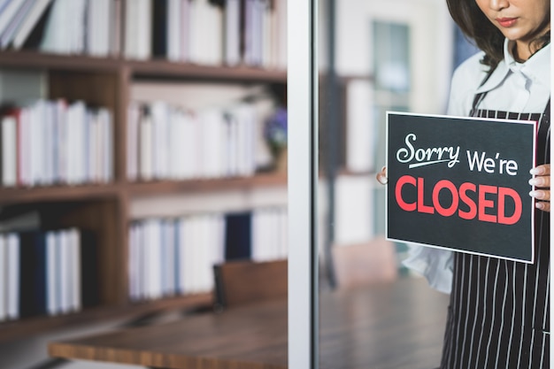
<path id="1" fill-rule="evenodd" d="M 213 266 L 214 310 L 287 298 L 288 261 L 227 261 Z"/>

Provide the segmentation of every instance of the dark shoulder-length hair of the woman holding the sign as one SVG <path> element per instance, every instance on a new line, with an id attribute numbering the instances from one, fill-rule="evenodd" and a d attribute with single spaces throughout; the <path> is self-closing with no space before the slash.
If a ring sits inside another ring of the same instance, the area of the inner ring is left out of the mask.
<path id="1" fill-rule="evenodd" d="M 475 42 L 477 47 L 485 52 L 481 63 L 495 68 L 504 58 L 504 35 L 496 28 L 490 20 L 481 12 L 475 0 L 446 0 L 450 16 L 461 31 Z M 544 19 L 546 25 L 550 22 L 550 12 Z M 531 42 L 540 50 L 550 42 L 550 28 L 544 35 L 537 35 Z"/>

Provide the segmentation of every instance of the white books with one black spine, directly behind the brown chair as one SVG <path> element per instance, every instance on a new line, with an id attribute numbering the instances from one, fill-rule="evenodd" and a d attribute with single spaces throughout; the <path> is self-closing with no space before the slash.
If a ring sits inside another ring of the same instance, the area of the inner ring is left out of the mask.
<path id="1" fill-rule="evenodd" d="M 142 219 L 129 227 L 129 296 L 133 301 L 208 292 L 213 265 L 288 255 L 283 208 Z"/>

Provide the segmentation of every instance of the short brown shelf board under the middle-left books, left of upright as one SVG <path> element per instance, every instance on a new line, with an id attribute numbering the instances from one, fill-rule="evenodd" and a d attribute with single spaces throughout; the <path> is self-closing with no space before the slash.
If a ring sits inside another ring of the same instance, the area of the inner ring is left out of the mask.
<path id="1" fill-rule="evenodd" d="M 34 201 L 72 201 L 117 196 L 115 184 L 0 188 L 0 203 L 30 203 Z"/>

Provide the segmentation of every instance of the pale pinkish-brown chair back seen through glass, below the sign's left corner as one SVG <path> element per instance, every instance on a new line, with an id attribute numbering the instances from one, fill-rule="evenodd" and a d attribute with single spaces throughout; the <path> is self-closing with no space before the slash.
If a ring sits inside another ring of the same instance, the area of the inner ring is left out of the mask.
<path id="1" fill-rule="evenodd" d="M 335 245 L 332 252 L 339 288 L 395 281 L 398 276 L 395 244 L 384 236 L 369 242 Z"/>

